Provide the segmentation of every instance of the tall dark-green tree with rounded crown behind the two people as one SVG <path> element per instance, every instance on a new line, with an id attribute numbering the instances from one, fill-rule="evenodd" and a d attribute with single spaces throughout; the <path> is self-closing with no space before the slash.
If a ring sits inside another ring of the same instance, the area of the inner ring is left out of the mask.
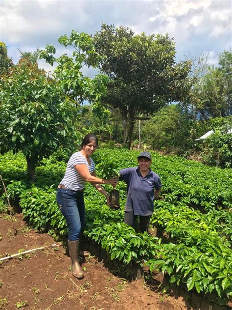
<path id="1" fill-rule="evenodd" d="M 124 143 L 131 144 L 135 120 L 179 101 L 190 87 L 191 62 L 175 62 L 175 44 L 168 35 L 137 34 L 103 24 L 94 36 L 96 51 L 105 55 L 100 69 L 110 78 L 102 102 L 120 111 Z"/>

